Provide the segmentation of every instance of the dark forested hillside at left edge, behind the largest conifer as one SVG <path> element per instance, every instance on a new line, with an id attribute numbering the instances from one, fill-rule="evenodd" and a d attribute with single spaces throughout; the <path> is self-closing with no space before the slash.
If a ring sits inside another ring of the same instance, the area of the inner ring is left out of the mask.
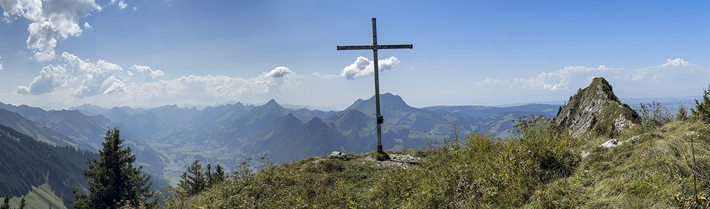
<path id="1" fill-rule="evenodd" d="M 0 125 L 0 193 L 26 195 L 32 186 L 49 183 L 55 195 L 65 198 L 70 188 L 84 187 L 82 161 L 97 154 L 72 147 L 55 147 L 17 130 Z"/>

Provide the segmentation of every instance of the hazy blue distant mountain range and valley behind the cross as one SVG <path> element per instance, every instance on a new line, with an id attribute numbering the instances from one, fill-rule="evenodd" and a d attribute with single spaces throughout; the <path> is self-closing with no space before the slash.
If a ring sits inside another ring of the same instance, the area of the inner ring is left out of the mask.
<path id="1" fill-rule="evenodd" d="M 261 106 L 233 103 L 180 108 L 114 107 L 84 104 L 71 110 L 45 111 L 0 103 L 0 124 L 52 145 L 95 151 L 108 128 L 117 127 L 146 172 L 177 182 L 195 159 L 236 166 L 268 154 L 275 163 L 327 154 L 361 153 L 376 148 L 374 98 L 358 99 L 343 111 L 285 108 L 271 100 Z M 463 133 L 490 132 L 507 137 L 515 118 L 552 117 L 559 106 L 531 104 L 508 108 L 432 106 L 414 108 L 393 94 L 381 95 L 383 147 L 428 146 L 449 137 L 452 123 Z M 5 111 L 6 110 L 6 111 Z"/>

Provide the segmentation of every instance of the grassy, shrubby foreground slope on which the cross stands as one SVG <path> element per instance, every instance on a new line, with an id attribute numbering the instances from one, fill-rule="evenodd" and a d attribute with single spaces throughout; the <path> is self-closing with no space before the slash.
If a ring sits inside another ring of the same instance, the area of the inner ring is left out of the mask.
<path id="1" fill-rule="evenodd" d="M 674 208 L 673 195 L 693 193 L 691 138 L 699 192 L 710 192 L 707 125 L 623 132 L 641 136 L 612 149 L 597 147 L 606 138 L 576 141 L 529 125 L 511 140 L 469 135 L 461 146 L 405 150 L 425 157 L 410 169 L 375 166 L 366 155 L 271 166 L 166 208 Z"/>

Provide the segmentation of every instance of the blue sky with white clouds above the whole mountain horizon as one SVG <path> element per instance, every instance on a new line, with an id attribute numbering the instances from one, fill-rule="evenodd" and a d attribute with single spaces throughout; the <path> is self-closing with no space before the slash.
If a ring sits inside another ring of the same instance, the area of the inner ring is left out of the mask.
<path id="1" fill-rule="evenodd" d="M 342 109 L 564 101 L 593 77 L 620 98 L 695 96 L 710 78 L 708 1 L 0 0 L 0 101 L 43 108 Z M 362 56 L 362 57 L 361 57 Z"/>

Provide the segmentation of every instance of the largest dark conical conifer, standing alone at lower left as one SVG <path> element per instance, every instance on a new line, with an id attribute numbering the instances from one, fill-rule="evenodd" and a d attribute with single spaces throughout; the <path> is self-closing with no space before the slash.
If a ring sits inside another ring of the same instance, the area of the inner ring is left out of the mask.
<path id="1" fill-rule="evenodd" d="M 100 159 L 87 162 L 89 169 L 82 171 L 84 179 L 89 181 L 87 193 L 80 193 L 72 188 L 75 200 L 67 202 L 73 208 L 119 208 L 120 204 L 129 203 L 134 208 L 139 204 L 153 206 L 146 202 L 152 182 L 151 176 L 141 174 L 143 166 L 133 167 L 136 155 L 131 154 L 131 147 L 124 147 L 119 130 L 114 128 L 106 132 L 103 149 L 99 150 Z"/>

